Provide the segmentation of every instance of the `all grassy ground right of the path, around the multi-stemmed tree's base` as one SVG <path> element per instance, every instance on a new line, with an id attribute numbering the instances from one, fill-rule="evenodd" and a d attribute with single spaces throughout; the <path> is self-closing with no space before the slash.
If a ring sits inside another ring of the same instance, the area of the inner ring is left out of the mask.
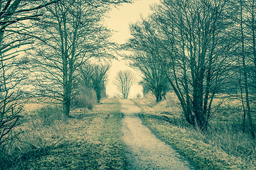
<path id="1" fill-rule="evenodd" d="M 143 108 L 143 123 L 201 169 L 255 169 L 255 141 L 242 133 L 242 113 L 235 112 L 238 100 L 223 101 L 205 134 L 189 128 L 174 94 L 160 103 L 154 100 L 150 94 L 134 100 Z"/>

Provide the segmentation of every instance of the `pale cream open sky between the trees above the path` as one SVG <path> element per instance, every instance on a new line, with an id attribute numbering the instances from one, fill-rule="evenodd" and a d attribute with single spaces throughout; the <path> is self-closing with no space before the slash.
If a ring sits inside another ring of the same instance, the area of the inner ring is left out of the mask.
<path id="1" fill-rule="evenodd" d="M 129 23 L 136 23 L 141 16 L 148 16 L 149 13 L 151 13 L 150 6 L 157 2 L 159 2 L 159 0 L 135 0 L 132 4 L 123 4 L 122 6 L 118 6 L 118 8 L 112 8 L 112 11 L 109 13 L 109 18 L 105 19 L 107 27 L 114 30 L 112 41 L 119 44 L 126 42 L 126 40 L 131 37 Z M 114 86 L 114 78 L 119 70 L 124 69 L 131 68 L 129 68 L 121 58 L 119 61 L 112 61 L 106 87 L 108 96 L 111 97 L 117 94 L 116 86 Z M 138 81 L 142 79 L 138 71 L 132 70 L 132 72 L 137 75 Z M 137 94 L 142 94 L 142 86 L 134 85 L 131 88 L 129 98 L 134 98 Z"/>

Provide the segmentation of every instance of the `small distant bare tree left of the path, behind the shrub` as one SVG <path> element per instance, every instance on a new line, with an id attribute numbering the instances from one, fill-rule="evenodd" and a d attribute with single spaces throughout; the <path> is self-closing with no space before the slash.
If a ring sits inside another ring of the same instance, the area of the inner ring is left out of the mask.
<path id="1" fill-rule="evenodd" d="M 97 102 L 105 92 L 105 82 L 110 64 L 82 64 L 80 67 L 81 86 L 87 86 L 96 92 Z"/>

